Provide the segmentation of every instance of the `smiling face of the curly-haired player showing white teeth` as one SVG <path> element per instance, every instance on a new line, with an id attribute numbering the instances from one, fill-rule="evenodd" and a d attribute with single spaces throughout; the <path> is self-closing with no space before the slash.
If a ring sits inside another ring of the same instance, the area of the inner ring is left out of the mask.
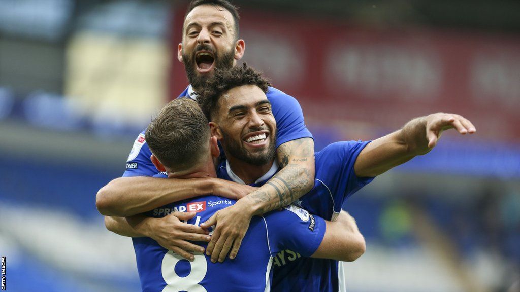
<path id="1" fill-rule="evenodd" d="M 256 85 L 235 87 L 220 97 L 210 126 L 230 161 L 261 166 L 274 160 L 276 121 L 264 91 Z"/>

